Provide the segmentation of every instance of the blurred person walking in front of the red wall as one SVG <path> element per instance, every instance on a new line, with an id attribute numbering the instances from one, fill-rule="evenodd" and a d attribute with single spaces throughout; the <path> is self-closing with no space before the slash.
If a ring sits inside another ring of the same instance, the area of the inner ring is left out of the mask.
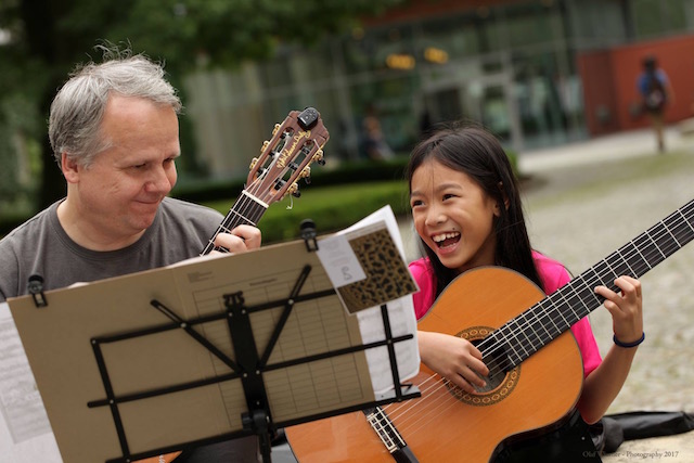
<path id="1" fill-rule="evenodd" d="M 642 61 L 643 70 L 637 79 L 637 87 L 641 95 L 641 112 L 651 118 L 651 126 L 655 131 L 658 151 L 665 151 L 664 112 L 672 100 L 673 93 L 665 70 L 658 67 L 655 56 L 646 56 Z"/>

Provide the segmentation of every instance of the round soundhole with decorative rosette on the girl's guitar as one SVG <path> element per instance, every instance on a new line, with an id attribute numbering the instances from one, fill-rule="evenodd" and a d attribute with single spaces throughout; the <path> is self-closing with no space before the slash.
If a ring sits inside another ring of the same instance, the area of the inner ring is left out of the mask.
<path id="1" fill-rule="evenodd" d="M 476 346 L 479 346 L 493 329 L 488 326 L 474 326 L 461 331 L 457 336 L 467 339 Z M 487 343 L 489 344 L 489 343 Z M 518 384 L 520 377 L 520 366 L 509 369 L 507 359 L 503 346 L 484 346 L 483 355 L 485 363 L 489 369 L 489 376 L 485 377 L 487 385 L 477 388 L 476 393 L 470 394 L 454 384 L 446 382 L 446 387 L 458 400 L 475 407 L 486 407 L 499 403 L 511 395 Z"/>

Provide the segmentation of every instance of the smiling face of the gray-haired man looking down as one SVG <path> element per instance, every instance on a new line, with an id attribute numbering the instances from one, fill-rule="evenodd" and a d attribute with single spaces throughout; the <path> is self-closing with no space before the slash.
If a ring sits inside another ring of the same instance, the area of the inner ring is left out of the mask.
<path id="1" fill-rule="evenodd" d="M 178 117 L 167 105 L 112 95 L 101 137 L 111 147 L 66 178 L 77 193 L 68 201 L 76 200 L 78 227 L 111 247 L 137 240 L 176 184 Z"/>

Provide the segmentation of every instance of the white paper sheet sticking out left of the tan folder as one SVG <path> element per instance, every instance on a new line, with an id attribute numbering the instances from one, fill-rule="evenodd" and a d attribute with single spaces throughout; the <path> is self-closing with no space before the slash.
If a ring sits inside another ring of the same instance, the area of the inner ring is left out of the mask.
<path id="1" fill-rule="evenodd" d="M 0 462 L 61 463 L 8 303 L 0 303 Z"/>

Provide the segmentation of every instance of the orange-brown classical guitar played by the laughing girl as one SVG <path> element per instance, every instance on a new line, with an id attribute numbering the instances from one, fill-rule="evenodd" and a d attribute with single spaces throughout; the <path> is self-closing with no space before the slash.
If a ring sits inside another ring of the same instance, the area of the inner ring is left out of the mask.
<path id="1" fill-rule="evenodd" d="M 467 394 L 422 364 L 420 399 L 285 428 L 300 463 L 488 462 L 568 420 L 583 368 L 569 327 L 599 308 L 597 285 L 640 278 L 694 239 L 694 201 L 545 296 L 525 276 L 480 268 L 458 276 L 420 321 L 476 344 L 490 370 Z"/>

